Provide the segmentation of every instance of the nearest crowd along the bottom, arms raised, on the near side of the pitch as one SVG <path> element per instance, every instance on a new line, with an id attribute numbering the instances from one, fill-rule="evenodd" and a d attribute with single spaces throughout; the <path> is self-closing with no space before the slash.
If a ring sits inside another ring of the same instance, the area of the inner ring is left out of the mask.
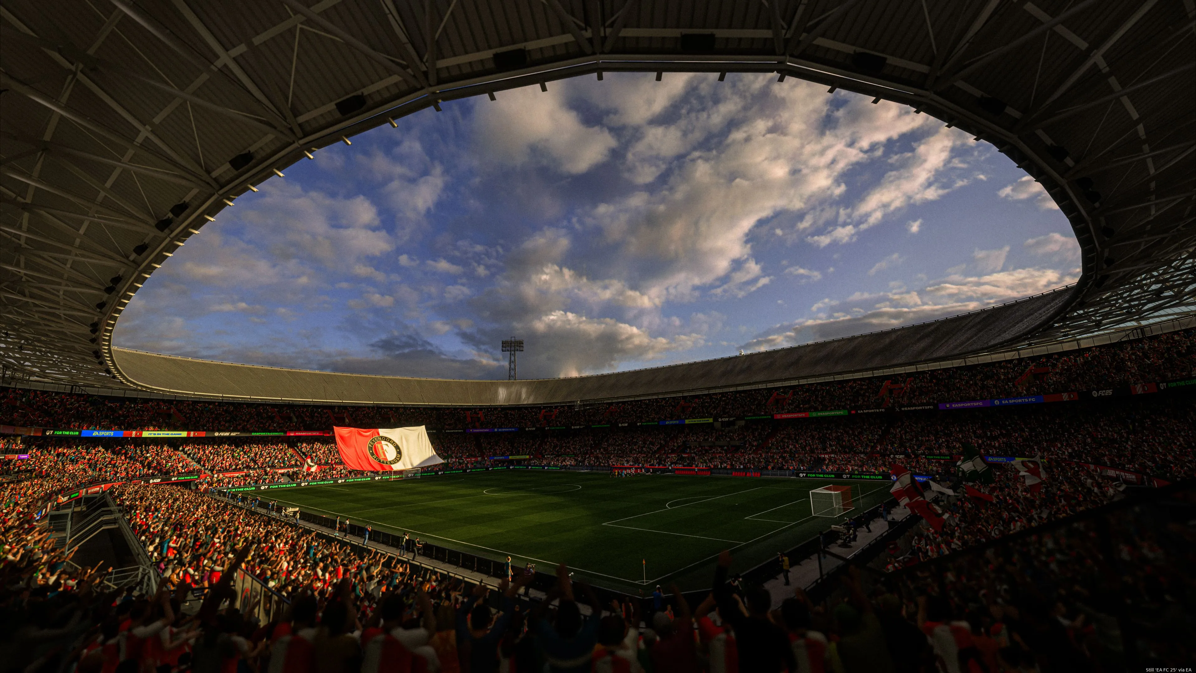
<path id="1" fill-rule="evenodd" d="M 1061 492 L 1079 488 L 1070 478 Z M 13 668 L 1058 673 L 1183 667 L 1196 642 L 1190 490 L 884 575 L 852 568 L 818 601 L 744 585 L 725 551 L 704 598 L 672 587 L 606 604 L 565 564 L 547 594 L 519 575 L 493 592 L 193 490 L 114 496 L 161 573 L 155 595 L 103 593 L 93 571 L 66 570 L 6 492 L 0 642 L 29 646 L 6 648 Z M 258 619 L 231 591 L 240 571 L 287 605 Z"/>

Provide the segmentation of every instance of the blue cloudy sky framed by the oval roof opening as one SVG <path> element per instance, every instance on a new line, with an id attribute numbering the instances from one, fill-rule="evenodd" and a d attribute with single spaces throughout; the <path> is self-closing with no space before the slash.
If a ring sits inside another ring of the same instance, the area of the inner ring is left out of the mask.
<path id="1" fill-rule="evenodd" d="M 270 178 L 129 302 L 117 345 L 520 378 L 919 323 L 1079 275 L 991 146 L 771 75 L 612 74 L 425 110 Z"/>

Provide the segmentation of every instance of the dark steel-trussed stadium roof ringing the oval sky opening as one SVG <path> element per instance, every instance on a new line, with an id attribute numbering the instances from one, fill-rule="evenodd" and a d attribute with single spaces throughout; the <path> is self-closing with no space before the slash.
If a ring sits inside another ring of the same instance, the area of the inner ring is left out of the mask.
<path id="1" fill-rule="evenodd" d="M 248 398 L 532 403 L 901 365 L 1192 308 L 1190 0 L 307 2 L 5 1 L 6 375 Z M 112 347 L 153 270 L 305 152 L 444 100 L 615 71 L 771 72 L 913 105 L 991 142 L 1046 189 L 1080 243 L 1080 281 L 878 335 L 514 387 Z M 286 386 L 297 388 L 275 394 Z M 344 386 L 364 387 L 343 397 Z"/>

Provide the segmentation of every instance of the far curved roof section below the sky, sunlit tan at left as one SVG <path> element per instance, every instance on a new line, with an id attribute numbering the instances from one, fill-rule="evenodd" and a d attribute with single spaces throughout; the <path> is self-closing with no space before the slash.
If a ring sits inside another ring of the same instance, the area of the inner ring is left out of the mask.
<path id="1" fill-rule="evenodd" d="M 123 378 L 145 390 L 209 398 L 402 405 L 539 405 L 713 392 L 990 350 L 1049 323 L 1063 287 L 962 316 L 775 350 L 567 379 L 484 381 L 283 369 L 114 348 Z"/>

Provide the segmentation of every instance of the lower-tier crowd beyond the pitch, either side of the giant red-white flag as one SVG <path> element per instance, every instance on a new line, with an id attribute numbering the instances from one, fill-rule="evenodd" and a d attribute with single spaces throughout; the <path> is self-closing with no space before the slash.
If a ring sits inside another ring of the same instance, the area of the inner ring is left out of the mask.
<path id="1" fill-rule="evenodd" d="M 1142 396 L 1105 402 L 968 411 L 887 412 L 716 427 L 584 428 L 519 433 L 432 433 L 441 469 L 532 463 L 886 473 L 893 460 L 919 473 L 952 475 L 963 446 L 986 455 L 1091 463 L 1168 482 L 1196 476 L 1196 402 Z M 227 439 L 177 445 L 25 438 L 24 460 L 0 478 L 55 478 L 69 489 L 147 476 L 213 476 L 213 488 L 361 476 L 332 441 Z M 514 457 L 514 458 L 507 458 Z M 526 457 L 526 458 L 524 458 Z"/>

